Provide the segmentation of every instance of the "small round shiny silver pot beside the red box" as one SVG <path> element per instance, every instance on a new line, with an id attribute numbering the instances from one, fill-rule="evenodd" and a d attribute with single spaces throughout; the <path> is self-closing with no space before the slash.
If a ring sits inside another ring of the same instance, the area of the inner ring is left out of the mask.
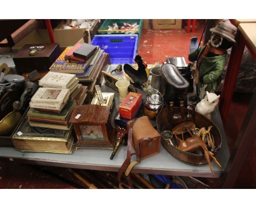
<path id="1" fill-rule="evenodd" d="M 147 101 L 143 106 L 143 113 L 150 119 L 154 119 L 161 111 L 162 103 L 164 103 L 164 97 L 158 90 L 151 88 L 147 92 Z"/>

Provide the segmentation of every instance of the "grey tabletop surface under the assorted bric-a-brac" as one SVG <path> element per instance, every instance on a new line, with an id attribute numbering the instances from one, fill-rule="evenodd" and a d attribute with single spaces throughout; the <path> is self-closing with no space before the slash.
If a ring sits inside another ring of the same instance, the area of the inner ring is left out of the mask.
<path id="1" fill-rule="evenodd" d="M 102 87 L 102 91 L 112 91 L 107 86 Z M 118 93 L 116 93 L 115 110 L 119 105 Z M 219 178 L 228 163 L 230 154 L 228 144 L 225 138 L 222 119 L 218 108 L 212 113 L 213 123 L 219 128 L 222 135 L 222 147 L 217 153 L 217 160 L 222 165 L 218 167 L 215 162 L 212 162 L 214 174 L 212 174 L 208 164 L 201 166 L 193 166 L 183 163 L 174 158 L 167 152 L 164 146 L 161 145 L 160 154 L 143 160 L 132 169 L 134 173 L 147 174 L 163 174 L 163 175 L 179 175 L 179 176 L 197 176 L 208 178 Z M 110 160 L 112 151 L 108 149 L 78 149 L 71 155 L 39 153 L 39 152 L 20 152 L 11 147 L 0 147 L 0 157 L 9 158 L 10 161 L 25 162 L 44 166 L 56 166 L 79 169 L 106 170 L 118 172 L 121 164 L 126 159 L 126 146 L 120 146 L 113 160 Z M 133 160 L 136 157 L 133 156 Z"/>

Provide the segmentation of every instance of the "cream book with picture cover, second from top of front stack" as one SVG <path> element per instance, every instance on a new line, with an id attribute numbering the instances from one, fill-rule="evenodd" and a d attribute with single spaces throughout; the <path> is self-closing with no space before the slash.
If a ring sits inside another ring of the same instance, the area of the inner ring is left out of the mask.
<path id="1" fill-rule="evenodd" d="M 63 104 L 66 103 L 70 95 L 69 89 L 60 88 L 38 88 L 33 95 L 32 103 Z"/>

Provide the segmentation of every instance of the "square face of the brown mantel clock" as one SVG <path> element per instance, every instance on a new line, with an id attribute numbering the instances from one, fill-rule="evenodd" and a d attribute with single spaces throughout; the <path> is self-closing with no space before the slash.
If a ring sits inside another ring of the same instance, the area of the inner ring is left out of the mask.
<path id="1" fill-rule="evenodd" d="M 101 126 L 79 126 L 83 141 L 104 141 Z"/>

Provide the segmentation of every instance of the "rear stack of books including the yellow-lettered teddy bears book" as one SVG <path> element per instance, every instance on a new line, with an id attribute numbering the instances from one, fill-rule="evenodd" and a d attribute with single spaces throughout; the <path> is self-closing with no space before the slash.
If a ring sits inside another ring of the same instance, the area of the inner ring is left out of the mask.
<path id="1" fill-rule="evenodd" d="M 50 71 L 74 74 L 80 83 L 88 86 L 88 94 L 92 96 L 100 72 L 107 64 L 110 64 L 108 53 L 99 46 L 76 44 L 62 52 L 51 65 Z"/>

